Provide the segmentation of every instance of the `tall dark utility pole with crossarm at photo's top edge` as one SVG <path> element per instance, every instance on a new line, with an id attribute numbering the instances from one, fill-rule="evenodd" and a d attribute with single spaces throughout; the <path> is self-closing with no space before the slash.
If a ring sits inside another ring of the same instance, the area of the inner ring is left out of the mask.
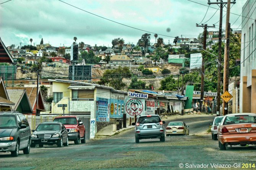
<path id="1" fill-rule="evenodd" d="M 233 3 L 233 4 L 235 4 L 236 2 L 235 1 L 233 1 L 233 2 L 230 2 L 230 3 Z M 221 85 L 220 85 L 220 82 L 221 82 L 221 70 L 222 70 L 222 68 L 221 68 L 221 65 L 220 65 L 220 63 L 221 63 L 221 51 L 222 51 L 222 48 L 221 48 L 221 44 L 222 44 L 222 40 L 221 40 L 221 38 L 222 38 L 222 9 L 223 9 L 223 5 L 226 5 L 227 4 L 227 2 L 223 2 L 222 0 L 220 0 L 220 2 L 210 2 L 210 0 L 208 1 L 208 4 L 209 5 L 211 5 L 211 4 L 217 4 L 217 5 L 219 5 L 220 4 L 220 23 L 219 23 L 219 52 L 218 52 L 218 63 L 217 63 L 217 65 L 218 65 L 218 70 L 217 70 L 217 72 L 218 72 L 218 83 L 217 83 L 217 112 L 219 112 L 220 113 L 220 87 L 221 87 Z"/>

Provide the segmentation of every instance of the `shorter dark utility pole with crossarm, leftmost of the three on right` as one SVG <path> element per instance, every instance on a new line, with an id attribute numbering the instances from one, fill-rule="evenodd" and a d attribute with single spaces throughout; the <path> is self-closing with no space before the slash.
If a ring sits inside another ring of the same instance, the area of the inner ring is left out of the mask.
<path id="1" fill-rule="evenodd" d="M 215 26 L 207 26 L 207 24 L 198 25 L 197 27 L 204 27 L 204 41 L 203 41 L 203 49 L 206 50 L 206 36 L 207 36 L 207 28 L 215 28 Z M 202 71 L 201 71 L 201 95 L 200 95 L 200 112 L 202 112 L 202 103 L 204 100 L 204 56 L 202 55 Z"/>

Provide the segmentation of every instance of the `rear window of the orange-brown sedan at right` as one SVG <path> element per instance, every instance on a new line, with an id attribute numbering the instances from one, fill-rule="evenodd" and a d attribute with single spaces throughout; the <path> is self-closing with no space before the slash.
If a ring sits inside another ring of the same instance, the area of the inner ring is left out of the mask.
<path id="1" fill-rule="evenodd" d="M 223 125 L 237 124 L 237 123 L 256 123 L 256 116 L 255 115 L 227 116 L 224 120 Z"/>

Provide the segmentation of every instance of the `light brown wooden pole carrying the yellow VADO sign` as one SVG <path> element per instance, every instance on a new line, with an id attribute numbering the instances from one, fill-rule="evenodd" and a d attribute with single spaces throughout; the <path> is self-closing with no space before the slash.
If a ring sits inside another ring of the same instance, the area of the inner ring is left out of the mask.
<path id="1" fill-rule="evenodd" d="M 225 49 L 224 49 L 224 70 L 223 70 L 223 93 L 225 91 L 228 91 L 228 58 L 229 58 L 229 34 L 230 34 L 230 0 L 228 0 L 227 3 L 227 15 L 226 15 L 226 35 L 225 35 Z M 226 115 L 228 113 L 228 104 L 226 102 L 223 102 L 223 109 L 222 109 L 223 115 Z"/>

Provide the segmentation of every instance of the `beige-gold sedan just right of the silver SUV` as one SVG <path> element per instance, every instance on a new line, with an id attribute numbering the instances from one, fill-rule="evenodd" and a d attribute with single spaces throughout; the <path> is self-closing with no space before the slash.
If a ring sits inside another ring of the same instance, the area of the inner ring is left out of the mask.
<path id="1" fill-rule="evenodd" d="M 166 136 L 173 134 L 189 135 L 190 130 L 188 127 L 183 121 L 170 121 L 166 127 Z"/>

